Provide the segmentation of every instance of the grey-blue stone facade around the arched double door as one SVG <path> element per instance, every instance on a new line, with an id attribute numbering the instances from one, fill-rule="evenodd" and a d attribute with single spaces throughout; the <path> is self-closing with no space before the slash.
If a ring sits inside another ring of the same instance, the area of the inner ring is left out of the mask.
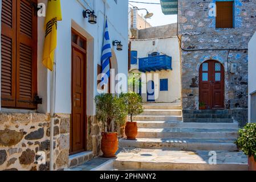
<path id="1" fill-rule="evenodd" d="M 247 46 L 256 27 L 256 2 L 234 0 L 234 27 L 216 28 L 210 16 L 215 0 L 178 1 L 178 36 L 181 39 L 182 106 L 196 110 L 199 105 L 199 69 L 207 60 L 220 62 L 225 69 L 224 102 L 233 118 L 247 122 L 248 52 Z M 230 72 L 232 63 L 237 71 Z"/>

